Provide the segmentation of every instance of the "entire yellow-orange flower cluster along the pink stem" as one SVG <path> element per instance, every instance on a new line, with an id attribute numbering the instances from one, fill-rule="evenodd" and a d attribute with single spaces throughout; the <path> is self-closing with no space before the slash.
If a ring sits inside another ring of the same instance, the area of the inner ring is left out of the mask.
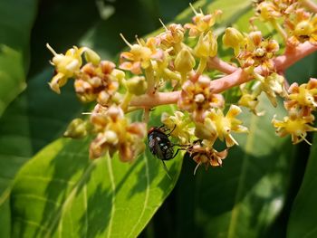
<path id="1" fill-rule="evenodd" d="M 47 45 L 53 52 L 51 63 L 56 72 L 50 82 L 52 90 L 60 93 L 72 78 L 78 98 L 96 103 L 88 113 L 90 119 L 74 119 L 64 134 L 71 138 L 95 135 L 91 158 L 107 153 L 112 157 L 118 152 L 121 161 L 134 160 L 145 149 L 151 109 L 175 104 L 178 109 L 174 113 L 161 115 L 168 136 L 177 141 L 168 146 L 187 150 L 197 167 L 221 166 L 230 148 L 238 145 L 234 134 L 248 132 L 243 120 L 238 119 L 243 111 L 240 107 L 263 115 L 256 109 L 262 92 L 274 107 L 277 97 L 284 100 L 288 116 L 272 120 L 278 136 L 291 135 L 293 143 L 298 143 L 306 140 L 308 131 L 317 130 L 312 127 L 317 80 L 288 87 L 283 76 L 289 65 L 317 50 L 316 14 L 308 12 L 300 1 L 257 1 L 251 32 L 228 27 L 222 35 L 223 45 L 234 50 L 235 61 L 224 62 L 217 57 L 219 41 L 213 29 L 221 11 L 204 14 L 191 7 L 195 14 L 192 23 L 162 23 L 162 32 L 148 39 L 137 38 L 136 43 L 129 43 L 120 34 L 129 49 L 120 53 L 118 64 L 102 61 L 87 47 L 74 46 L 62 54 Z M 255 19 L 272 24 L 282 34 L 283 43 L 265 38 Z M 285 52 L 280 47 L 283 45 Z M 227 75 L 215 79 L 216 71 Z M 239 98 L 227 106 L 222 92 L 235 86 Z M 143 110 L 143 121 L 130 122 L 127 114 L 132 110 Z M 156 132 L 162 137 L 164 131 Z M 161 141 L 154 136 L 151 138 Z M 216 148 L 217 140 L 226 148 Z M 164 147 L 156 143 L 151 141 L 153 151 Z M 155 151 L 160 159 L 164 158 L 162 151 Z"/>

